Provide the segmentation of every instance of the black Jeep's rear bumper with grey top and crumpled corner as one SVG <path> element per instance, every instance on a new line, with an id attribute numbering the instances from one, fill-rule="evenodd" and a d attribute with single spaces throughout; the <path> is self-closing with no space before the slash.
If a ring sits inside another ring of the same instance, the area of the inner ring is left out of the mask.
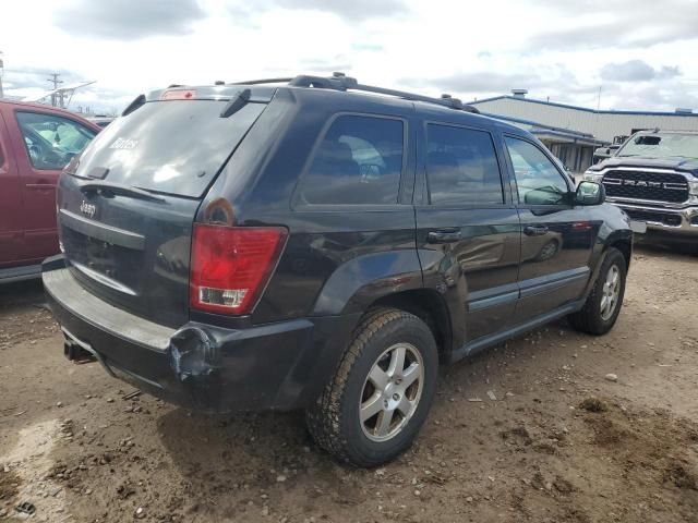
<path id="1" fill-rule="evenodd" d="M 308 406 L 337 365 L 358 315 L 226 329 L 153 324 L 84 290 L 62 256 L 44 264 L 44 287 L 69 343 L 153 396 L 207 412 Z"/>

